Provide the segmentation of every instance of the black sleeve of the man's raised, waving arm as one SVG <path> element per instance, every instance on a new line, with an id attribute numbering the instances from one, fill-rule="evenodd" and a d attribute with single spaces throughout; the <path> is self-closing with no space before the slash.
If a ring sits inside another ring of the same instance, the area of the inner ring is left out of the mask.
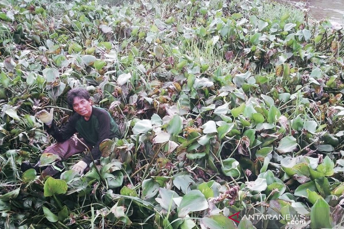
<path id="1" fill-rule="evenodd" d="M 58 128 L 56 126 L 55 121 L 53 120 L 53 122 L 51 123 L 51 127 L 49 128 L 49 126 L 44 124 L 44 128 L 46 129 L 46 132 L 48 134 L 50 134 L 51 136 L 53 136 L 53 138 L 56 139 L 57 142 L 63 142 L 67 139 L 69 139 L 70 137 L 73 136 L 73 134 L 76 132 L 75 130 L 75 120 L 76 116 L 72 115 L 68 121 L 61 127 Z"/>

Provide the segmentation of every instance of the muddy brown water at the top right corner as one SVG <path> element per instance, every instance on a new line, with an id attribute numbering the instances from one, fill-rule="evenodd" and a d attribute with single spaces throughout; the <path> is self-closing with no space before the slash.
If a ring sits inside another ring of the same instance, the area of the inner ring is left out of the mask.
<path id="1" fill-rule="evenodd" d="M 292 4 L 304 4 L 309 8 L 312 17 L 321 20 L 329 19 L 331 22 L 344 24 L 344 0 L 280 0 Z"/>

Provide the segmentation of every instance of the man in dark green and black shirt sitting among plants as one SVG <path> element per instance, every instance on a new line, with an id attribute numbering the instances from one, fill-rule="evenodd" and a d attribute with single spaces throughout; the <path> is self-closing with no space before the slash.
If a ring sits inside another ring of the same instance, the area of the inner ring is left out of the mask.
<path id="1" fill-rule="evenodd" d="M 57 141 L 57 143 L 47 147 L 44 153 L 57 154 L 61 159 L 65 159 L 85 151 L 86 146 L 90 149 L 92 156 L 87 153 L 82 160 L 72 167 L 72 170 L 83 174 L 84 170 L 93 162 L 92 157 L 94 160 L 100 158 L 99 144 L 107 138 L 120 138 L 120 133 L 109 112 L 103 108 L 92 106 L 87 90 L 80 88 L 70 90 L 67 93 L 67 103 L 75 113 L 69 117 L 67 123 L 61 128 L 58 128 L 53 121 L 53 108 L 50 112 L 46 110 L 37 112 L 35 116 L 44 123 L 47 133 Z M 81 140 L 72 137 L 76 132 L 82 137 Z M 40 162 L 37 163 L 36 167 L 39 164 Z M 57 163 L 57 167 L 61 168 L 61 163 L 60 165 Z M 42 171 L 42 176 L 53 176 L 58 172 L 58 170 L 49 166 Z"/>

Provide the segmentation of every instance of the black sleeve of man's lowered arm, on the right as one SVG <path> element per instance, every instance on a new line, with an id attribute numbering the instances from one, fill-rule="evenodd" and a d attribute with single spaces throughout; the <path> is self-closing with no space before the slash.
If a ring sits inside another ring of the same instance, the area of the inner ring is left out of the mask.
<path id="1" fill-rule="evenodd" d="M 101 156 L 101 152 L 99 150 L 100 143 L 104 140 L 110 137 L 110 116 L 107 113 L 101 113 L 98 118 L 98 141 L 96 145 L 91 150 L 91 154 L 93 156 L 94 160 L 98 160 Z M 89 165 L 92 162 L 92 157 L 89 155 L 89 153 L 86 153 L 85 157 L 83 158 L 83 161 Z"/>

